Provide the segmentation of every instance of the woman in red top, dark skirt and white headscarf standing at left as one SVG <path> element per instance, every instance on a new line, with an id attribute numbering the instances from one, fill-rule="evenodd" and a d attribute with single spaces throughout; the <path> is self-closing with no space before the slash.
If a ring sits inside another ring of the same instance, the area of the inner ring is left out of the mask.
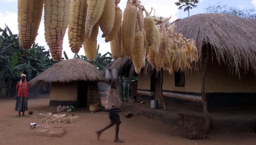
<path id="1" fill-rule="evenodd" d="M 22 112 L 22 116 L 24 116 L 25 110 L 28 110 L 28 82 L 26 81 L 26 75 L 22 74 L 20 81 L 17 83 L 16 86 L 16 106 L 15 110 Z"/>

